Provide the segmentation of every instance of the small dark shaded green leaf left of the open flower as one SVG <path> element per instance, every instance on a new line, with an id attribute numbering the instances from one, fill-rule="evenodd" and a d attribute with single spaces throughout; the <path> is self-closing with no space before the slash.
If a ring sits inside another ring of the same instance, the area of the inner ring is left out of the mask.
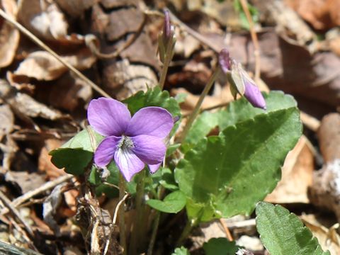
<path id="1" fill-rule="evenodd" d="M 60 148 L 50 152 L 51 162 L 57 168 L 64 170 L 73 175 L 84 174 L 85 169 L 92 160 L 93 152 L 84 149 Z"/>

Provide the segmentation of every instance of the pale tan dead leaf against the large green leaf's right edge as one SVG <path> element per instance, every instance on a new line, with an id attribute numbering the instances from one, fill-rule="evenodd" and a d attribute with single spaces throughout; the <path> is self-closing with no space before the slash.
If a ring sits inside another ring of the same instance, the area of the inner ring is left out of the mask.
<path id="1" fill-rule="evenodd" d="M 312 184 L 314 155 L 307 138 L 302 136 L 285 158 L 282 179 L 266 201 L 271 203 L 309 203 L 307 187 Z"/>

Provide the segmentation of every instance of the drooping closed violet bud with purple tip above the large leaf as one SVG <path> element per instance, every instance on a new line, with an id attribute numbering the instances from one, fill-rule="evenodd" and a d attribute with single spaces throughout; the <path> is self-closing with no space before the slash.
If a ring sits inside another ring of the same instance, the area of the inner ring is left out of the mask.
<path id="1" fill-rule="evenodd" d="M 227 49 L 221 50 L 218 56 L 218 62 L 220 63 L 222 72 L 227 75 L 232 96 L 236 98 L 237 94 L 240 94 L 244 96 L 252 106 L 266 110 L 266 101 L 258 86 L 256 86 L 255 81 L 244 71 L 242 64 L 237 63 L 229 57 L 229 51 Z"/>

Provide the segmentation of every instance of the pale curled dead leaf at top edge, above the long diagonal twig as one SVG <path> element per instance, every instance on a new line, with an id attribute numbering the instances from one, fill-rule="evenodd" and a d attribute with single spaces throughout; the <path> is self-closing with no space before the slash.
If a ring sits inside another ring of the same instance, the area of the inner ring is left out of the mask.
<path id="1" fill-rule="evenodd" d="M 28 30 L 46 40 L 57 40 L 67 35 L 68 24 L 64 14 L 52 1 L 20 0 L 18 18 Z"/>

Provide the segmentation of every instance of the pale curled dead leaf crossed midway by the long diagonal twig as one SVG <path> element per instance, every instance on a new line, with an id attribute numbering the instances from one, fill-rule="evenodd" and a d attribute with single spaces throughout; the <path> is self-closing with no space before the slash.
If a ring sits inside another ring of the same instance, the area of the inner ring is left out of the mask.
<path id="1" fill-rule="evenodd" d="M 96 61 L 96 58 L 88 49 L 74 52 L 74 55 L 62 56 L 62 59 L 79 70 L 91 67 Z M 67 67 L 56 60 L 55 57 L 52 57 L 50 53 L 36 51 L 30 53 L 26 60 L 21 62 L 13 74 L 13 81 L 16 81 L 16 76 L 26 76 L 38 80 L 51 81 L 60 77 L 64 72 L 67 72 L 67 70 Z M 20 79 L 20 77 L 18 77 L 18 79 Z"/>

